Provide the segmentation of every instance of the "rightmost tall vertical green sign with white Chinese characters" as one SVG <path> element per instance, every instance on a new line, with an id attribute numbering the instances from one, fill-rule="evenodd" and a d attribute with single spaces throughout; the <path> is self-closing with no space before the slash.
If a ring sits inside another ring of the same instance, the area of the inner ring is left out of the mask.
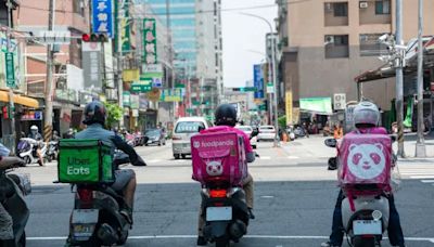
<path id="1" fill-rule="evenodd" d="M 143 20 L 143 55 L 145 64 L 156 64 L 155 18 Z"/>

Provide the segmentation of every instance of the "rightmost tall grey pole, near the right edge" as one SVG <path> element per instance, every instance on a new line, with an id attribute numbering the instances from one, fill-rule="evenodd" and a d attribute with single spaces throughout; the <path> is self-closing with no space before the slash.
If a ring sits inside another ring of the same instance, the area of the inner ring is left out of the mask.
<path id="1" fill-rule="evenodd" d="M 425 157 L 425 140 L 423 138 L 423 0 L 419 0 L 419 32 L 418 32 L 418 140 L 416 157 Z"/>

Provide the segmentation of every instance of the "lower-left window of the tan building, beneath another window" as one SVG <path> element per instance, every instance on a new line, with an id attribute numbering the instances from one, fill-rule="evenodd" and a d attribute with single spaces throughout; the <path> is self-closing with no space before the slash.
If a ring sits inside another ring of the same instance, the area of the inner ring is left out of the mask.
<path id="1" fill-rule="evenodd" d="M 327 35 L 324 46 L 326 58 L 349 57 L 347 35 Z"/>

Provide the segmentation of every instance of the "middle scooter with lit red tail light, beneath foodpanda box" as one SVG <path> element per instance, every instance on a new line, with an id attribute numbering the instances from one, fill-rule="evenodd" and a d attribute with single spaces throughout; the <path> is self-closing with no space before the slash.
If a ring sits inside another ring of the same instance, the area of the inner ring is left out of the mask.
<path id="1" fill-rule="evenodd" d="M 202 212 L 206 223 L 204 237 L 216 247 L 227 247 L 247 233 L 250 213 L 242 187 L 215 180 L 202 188 Z"/>

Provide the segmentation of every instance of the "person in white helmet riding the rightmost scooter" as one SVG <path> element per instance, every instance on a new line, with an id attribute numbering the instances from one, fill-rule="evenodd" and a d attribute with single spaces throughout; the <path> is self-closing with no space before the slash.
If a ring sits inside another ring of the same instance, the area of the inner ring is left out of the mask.
<path id="1" fill-rule="evenodd" d="M 387 134 L 387 131 L 383 127 L 378 127 L 380 122 L 380 110 L 376 105 L 370 101 L 361 101 L 353 112 L 354 125 L 356 130 L 347 133 L 346 135 L 374 133 L 374 134 Z M 345 140 L 345 138 L 344 138 Z M 392 194 L 385 195 L 390 204 L 390 221 L 388 221 L 388 240 L 392 246 L 404 247 L 404 234 L 400 227 L 400 220 L 398 211 L 395 207 L 395 200 Z M 342 223 L 342 200 L 344 195 L 342 190 L 339 193 L 337 202 L 333 212 L 332 234 L 327 243 L 322 243 L 322 247 L 340 247 L 342 246 L 344 238 L 344 226 Z"/>

